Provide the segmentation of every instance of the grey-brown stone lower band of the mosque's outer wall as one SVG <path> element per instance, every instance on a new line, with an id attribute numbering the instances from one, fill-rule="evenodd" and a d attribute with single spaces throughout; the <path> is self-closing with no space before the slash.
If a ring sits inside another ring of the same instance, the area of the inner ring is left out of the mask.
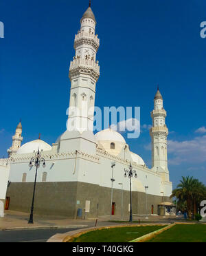
<path id="1" fill-rule="evenodd" d="M 30 213 L 34 184 L 12 183 L 8 188 L 10 210 Z M 18 191 L 18 193 L 16 193 Z M 133 192 L 132 206 L 134 215 L 146 214 L 146 197 L 148 215 L 157 214 L 157 206 L 163 202 L 161 196 Z M 165 201 L 170 201 L 165 198 Z M 89 203 L 89 209 L 88 209 Z M 113 189 L 114 215 L 122 214 L 122 189 Z M 124 217 L 129 215 L 130 192 L 123 191 Z M 152 206 L 153 205 L 153 206 Z M 78 218 L 78 209 L 82 209 L 84 217 L 110 215 L 111 188 L 84 182 L 38 182 L 34 201 L 34 214 L 62 215 Z M 85 211 L 86 209 L 86 211 Z"/>

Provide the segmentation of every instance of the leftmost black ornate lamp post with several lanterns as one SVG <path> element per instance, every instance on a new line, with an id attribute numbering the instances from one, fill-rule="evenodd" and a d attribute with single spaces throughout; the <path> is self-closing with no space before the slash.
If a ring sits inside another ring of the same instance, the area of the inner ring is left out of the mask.
<path id="1" fill-rule="evenodd" d="M 37 176 L 37 170 L 40 167 L 40 164 L 43 162 L 43 167 L 46 167 L 45 159 L 41 157 L 41 153 L 38 151 L 35 153 L 35 157 L 31 158 L 29 166 L 32 167 L 34 165 L 36 166 L 36 174 L 35 174 L 35 180 L 34 180 L 34 192 L 33 192 L 33 198 L 32 198 L 32 207 L 31 207 L 31 213 L 30 213 L 30 220 L 28 224 L 33 224 L 33 211 L 34 211 L 34 195 L 35 195 L 35 189 L 36 189 L 36 176 Z"/>

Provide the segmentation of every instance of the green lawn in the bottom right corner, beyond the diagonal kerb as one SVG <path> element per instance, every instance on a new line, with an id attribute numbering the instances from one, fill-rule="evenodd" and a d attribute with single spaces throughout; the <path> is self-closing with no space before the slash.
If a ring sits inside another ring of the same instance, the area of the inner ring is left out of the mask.
<path id="1" fill-rule="evenodd" d="M 147 242 L 206 242 L 206 225 L 176 224 Z"/>

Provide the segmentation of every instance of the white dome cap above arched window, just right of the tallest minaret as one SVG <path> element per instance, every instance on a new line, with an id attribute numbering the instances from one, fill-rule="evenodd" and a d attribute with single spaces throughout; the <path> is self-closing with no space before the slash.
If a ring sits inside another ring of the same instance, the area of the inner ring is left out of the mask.
<path id="1" fill-rule="evenodd" d="M 105 129 L 103 131 L 99 131 L 97 134 L 95 134 L 95 139 L 97 141 L 109 140 L 111 142 L 122 142 L 126 144 L 124 137 L 121 134 L 119 134 L 117 131 L 114 131 L 111 128 Z"/>

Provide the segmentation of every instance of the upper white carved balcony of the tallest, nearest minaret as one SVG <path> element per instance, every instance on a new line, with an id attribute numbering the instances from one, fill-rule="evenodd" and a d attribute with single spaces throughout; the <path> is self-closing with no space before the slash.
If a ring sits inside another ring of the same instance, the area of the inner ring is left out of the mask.
<path id="1" fill-rule="evenodd" d="M 95 50 L 98 51 L 100 39 L 98 39 L 98 35 L 88 32 L 79 32 L 75 36 L 73 47 L 76 49 L 79 45 L 92 45 Z"/>

